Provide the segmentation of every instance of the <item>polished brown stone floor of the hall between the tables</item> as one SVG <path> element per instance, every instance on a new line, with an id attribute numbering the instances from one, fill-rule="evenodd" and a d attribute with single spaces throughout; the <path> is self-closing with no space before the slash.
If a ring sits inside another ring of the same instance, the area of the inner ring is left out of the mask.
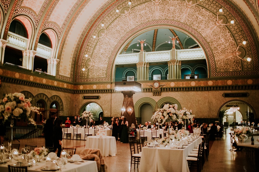
<path id="1" fill-rule="evenodd" d="M 229 131 L 227 130 L 227 133 Z M 84 140 L 62 140 L 62 147 L 76 148 L 76 153 L 84 149 Z M 18 143 L 17 140 L 13 143 Z M 41 147 L 45 144 L 44 138 L 33 138 L 33 139 L 21 139 L 20 140 L 20 150 L 27 145 L 37 145 Z M 245 149 L 241 152 L 229 151 L 230 146 L 230 135 L 223 137 L 221 140 L 215 140 L 210 142 L 210 154 L 208 161 L 205 162 L 202 172 L 212 172 L 212 171 L 256 171 L 251 163 L 245 159 Z M 234 149 L 235 150 L 235 149 Z M 151 156 L 151 155 L 150 155 Z M 116 157 L 104 157 L 107 165 L 108 171 L 120 171 L 126 172 L 130 171 L 130 146 L 126 143 L 117 142 L 117 156 Z M 132 166 L 132 171 L 138 171 Z"/>

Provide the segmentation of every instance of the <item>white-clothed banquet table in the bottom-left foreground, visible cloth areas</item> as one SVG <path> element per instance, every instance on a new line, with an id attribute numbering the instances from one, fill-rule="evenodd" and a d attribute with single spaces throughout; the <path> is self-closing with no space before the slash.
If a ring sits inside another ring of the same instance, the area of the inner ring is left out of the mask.
<path id="1" fill-rule="evenodd" d="M 5 163 L 0 165 L 0 171 L 5 172 L 8 171 L 8 165 L 13 166 L 15 160 L 12 160 L 12 163 Z M 40 168 L 45 165 L 46 161 L 41 161 L 38 162 L 37 166 L 32 166 L 28 167 L 28 172 L 37 172 L 37 171 L 42 171 Z M 96 161 L 84 161 L 80 164 L 75 164 L 75 163 L 67 163 L 65 165 L 65 168 L 61 168 L 63 172 L 97 172 L 97 164 Z"/>

